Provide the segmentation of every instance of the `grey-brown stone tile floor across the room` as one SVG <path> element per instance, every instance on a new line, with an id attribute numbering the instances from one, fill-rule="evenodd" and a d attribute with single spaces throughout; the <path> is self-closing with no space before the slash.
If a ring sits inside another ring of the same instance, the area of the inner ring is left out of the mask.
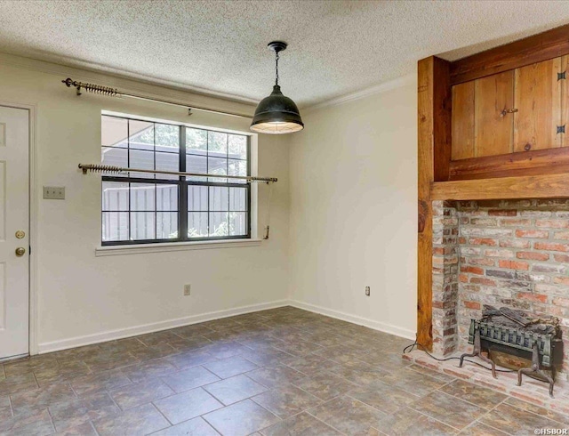
<path id="1" fill-rule="evenodd" d="M 409 343 L 284 307 L 44 354 L 0 365 L 0 434 L 517 435 L 569 428 L 569 416 L 402 359 Z"/>

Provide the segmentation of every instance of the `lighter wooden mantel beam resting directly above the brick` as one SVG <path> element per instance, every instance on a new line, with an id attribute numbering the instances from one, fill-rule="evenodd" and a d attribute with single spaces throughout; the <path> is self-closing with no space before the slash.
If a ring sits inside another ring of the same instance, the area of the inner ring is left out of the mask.
<path id="1" fill-rule="evenodd" d="M 431 183 L 432 200 L 569 198 L 569 174 Z"/>

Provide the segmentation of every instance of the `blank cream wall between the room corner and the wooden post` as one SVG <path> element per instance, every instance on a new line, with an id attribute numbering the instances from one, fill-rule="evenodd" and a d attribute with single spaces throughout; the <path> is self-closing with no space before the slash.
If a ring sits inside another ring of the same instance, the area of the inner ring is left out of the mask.
<path id="1" fill-rule="evenodd" d="M 417 85 L 393 85 L 305 112 L 290 137 L 290 295 L 414 338 Z"/>

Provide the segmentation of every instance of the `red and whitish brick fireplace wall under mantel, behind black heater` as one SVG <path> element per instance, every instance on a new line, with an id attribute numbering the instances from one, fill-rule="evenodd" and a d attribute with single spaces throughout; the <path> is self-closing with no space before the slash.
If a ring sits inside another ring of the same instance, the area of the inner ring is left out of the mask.
<path id="1" fill-rule="evenodd" d="M 484 304 L 556 316 L 569 350 L 568 272 L 569 200 L 434 201 L 433 351 L 467 350 Z"/>

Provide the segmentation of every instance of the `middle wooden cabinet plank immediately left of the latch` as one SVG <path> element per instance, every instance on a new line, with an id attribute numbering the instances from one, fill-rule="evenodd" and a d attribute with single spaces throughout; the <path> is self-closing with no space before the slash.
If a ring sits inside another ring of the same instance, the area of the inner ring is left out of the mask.
<path id="1" fill-rule="evenodd" d="M 475 152 L 477 157 L 510 153 L 513 117 L 502 115 L 514 105 L 514 72 L 505 71 L 476 80 Z"/>

